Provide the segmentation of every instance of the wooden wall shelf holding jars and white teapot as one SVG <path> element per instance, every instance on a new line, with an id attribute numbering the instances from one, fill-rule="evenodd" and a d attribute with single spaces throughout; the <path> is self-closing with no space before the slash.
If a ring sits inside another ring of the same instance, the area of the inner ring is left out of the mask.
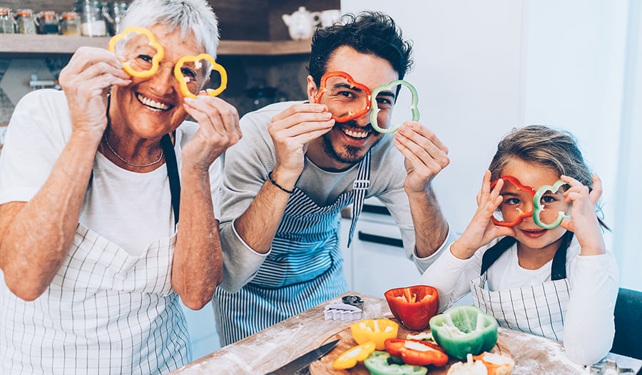
<path id="1" fill-rule="evenodd" d="M 109 37 L 0 34 L 0 54 L 71 54 L 81 46 L 106 48 Z M 218 55 L 280 56 L 310 53 L 310 41 L 220 41 Z"/>

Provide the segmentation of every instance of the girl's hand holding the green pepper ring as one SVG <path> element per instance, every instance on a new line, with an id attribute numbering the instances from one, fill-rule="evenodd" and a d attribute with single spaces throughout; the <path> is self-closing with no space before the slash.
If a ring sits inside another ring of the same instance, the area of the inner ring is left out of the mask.
<path id="1" fill-rule="evenodd" d="M 571 187 L 564 192 L 567 203 L 571 203 L 571 220 L 564 219 L 561 227 L 574 232 L 581 247 L 581 255 L 600 255 L 606 252 L 600 223 L 595 213 L 595 205 L 602 195 L 602 181 L 593 175 L 593 190 L 569 176 L 561 180 Z"/>

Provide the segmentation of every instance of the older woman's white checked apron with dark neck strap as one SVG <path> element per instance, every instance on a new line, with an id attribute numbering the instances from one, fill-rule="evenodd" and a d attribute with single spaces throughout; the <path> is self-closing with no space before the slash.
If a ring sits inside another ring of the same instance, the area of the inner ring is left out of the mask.
<path id="1" fill-rule="evenodd" d="M 161 143 L 178 221 L 175 154 L 169 137 Z M 187 323 L 171 284 L 175 243 L 174 234 L 133 257 L 78 224 L 44 294 L 26 302 L 0 283 L 0 374 L 165 374 L 187 364 Z"/>

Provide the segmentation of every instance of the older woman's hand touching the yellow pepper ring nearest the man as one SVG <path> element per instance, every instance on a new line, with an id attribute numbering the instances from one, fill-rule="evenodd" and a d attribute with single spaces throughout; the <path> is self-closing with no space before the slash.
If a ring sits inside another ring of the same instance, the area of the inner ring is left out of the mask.
<path id="1" fill-rule="evenodd" d="M 194 138 L 183 148 L 183 163 L 193 163 L 207 170 L 243 135 L 238 111 L 223 99 L 204 94 L 196 99 L 185 98 L 183 106 L 200 125 Z"/>

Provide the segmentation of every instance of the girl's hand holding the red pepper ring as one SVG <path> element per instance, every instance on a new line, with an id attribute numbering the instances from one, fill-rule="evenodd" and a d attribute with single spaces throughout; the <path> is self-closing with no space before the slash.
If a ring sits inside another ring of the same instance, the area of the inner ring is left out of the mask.
<path id="1" fill-rule="evenodd" d="M 514 236 L 515 231 L 510 227 L 499 227 L 491 220 L 493 212 L 501 204 L 503 197 L 499 195 L 504 180 L 499 180 L 493 190 L 490 188 L 491 173 L 486 170 L 481 190 L 477 194 L 477 211 L 462 237 L 459 237 L 450 247 L 452 255 L 459 259 L 468 259 L 479 249 L 500 236 Z"/>

